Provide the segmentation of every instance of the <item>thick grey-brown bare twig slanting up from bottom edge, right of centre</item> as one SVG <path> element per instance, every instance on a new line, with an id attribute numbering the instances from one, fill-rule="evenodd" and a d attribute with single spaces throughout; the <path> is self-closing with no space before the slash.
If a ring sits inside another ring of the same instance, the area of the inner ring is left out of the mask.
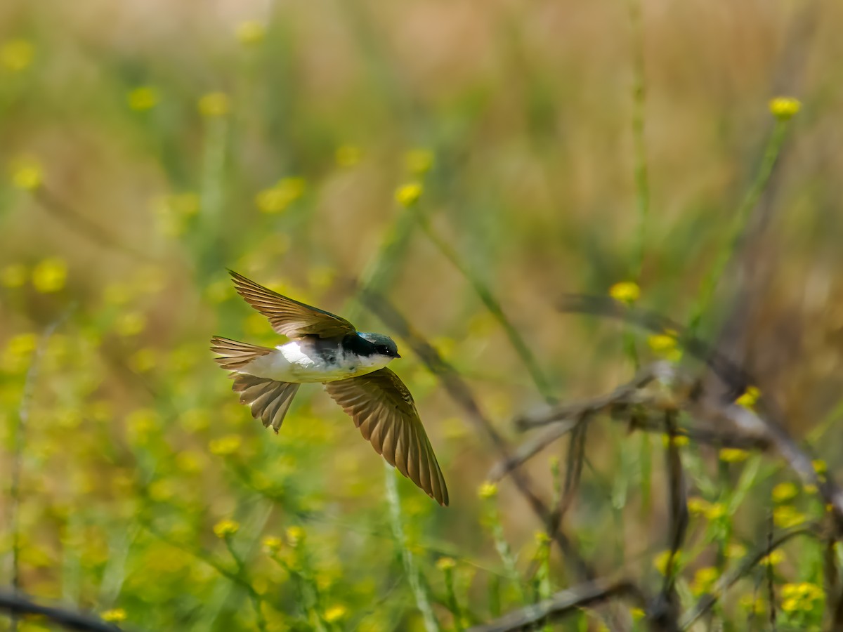
<path id="1" fill-rule="evenodd" d="M 613 597 L 631 597 L 641 607 L 645 603 L 642 592 L 629 580 L 588 581 L 580 586 L 556 592 L 550 599 L 518 608 L 500 619 L 476 625 L 470 628 L 469 632 L 510 632 L 510 630 L 527 629 L 541 621 L 559 619 L 579 608 Z"/>

